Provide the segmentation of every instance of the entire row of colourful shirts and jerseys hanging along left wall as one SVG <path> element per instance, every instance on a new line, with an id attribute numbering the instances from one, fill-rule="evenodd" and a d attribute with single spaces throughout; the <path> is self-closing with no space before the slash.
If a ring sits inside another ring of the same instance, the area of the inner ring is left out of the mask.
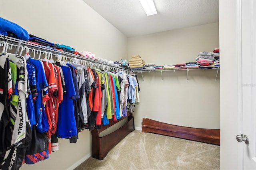
<path id="1" fill-rule="evenodd" d="M 2 53 L 0 61 L 1 169 L 48 159 L 58 150 L 58 137 L 76 143 L 81 130 L 126 116 L 128 99 L 139 102 L 136 78 L 124 71 L 50 63 L 28 53 Z"/>

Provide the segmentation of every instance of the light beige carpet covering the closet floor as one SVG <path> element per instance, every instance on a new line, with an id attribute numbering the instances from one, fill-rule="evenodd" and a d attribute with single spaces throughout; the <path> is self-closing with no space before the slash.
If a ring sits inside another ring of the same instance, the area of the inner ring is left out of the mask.
<path id="1" fill-rule="evenodd" d="M 220 146 L 134 130 L 104 160 L 88 158 L 75 170 L 217 170 Z"/>

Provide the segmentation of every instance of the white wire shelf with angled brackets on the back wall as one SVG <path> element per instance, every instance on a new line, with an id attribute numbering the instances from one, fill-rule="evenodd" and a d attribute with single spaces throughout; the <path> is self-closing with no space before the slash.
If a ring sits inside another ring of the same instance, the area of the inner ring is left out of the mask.
<path id="1" fill-rule="evenodd" d="M 186 81 L 188 81 L 188 72 L 190 70 L 203 70 L 204 71 L 204 70 L 212 70 L 212 69 L 217 69 L 216 76 L 215 76 L 215 81 L 216 81 L 220 67 L 212 67 L 210 69 L 209 68 L 186 68 L 186 67 L 181 68 L 181 69 L 142 69 L 142 70 L 134 70 L 133 72 L 136 73 L 136 74 L 141 73 L 142 80 L 144 81 L 143 72 L 149 72 L 150 73 L 150 72 L 160 71 L 161 72 L 162 81 L 163 81 L 163 74 L 162 74 L 163 71 L 174 71 L 174 72 L 175 71 L 186 71 L 187 72 L 187 79 L 186 79 Z"/>

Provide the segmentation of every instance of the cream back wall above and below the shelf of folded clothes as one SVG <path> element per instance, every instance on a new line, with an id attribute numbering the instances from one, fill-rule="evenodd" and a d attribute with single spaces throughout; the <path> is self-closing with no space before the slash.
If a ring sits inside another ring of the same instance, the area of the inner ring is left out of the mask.
<path id="1" fill-rule="evenodd" d="M 145 63 L 168 65 L 195 62 L 201 51 L 219 47 L 218 23 L 128 38 L 128 59 L 140 55 Z M 143 118 L 196 128 L 220 128 L 220 82 L 217 70 L 138 74 L 140 104 L 134 112 L 135 127 Z"/>

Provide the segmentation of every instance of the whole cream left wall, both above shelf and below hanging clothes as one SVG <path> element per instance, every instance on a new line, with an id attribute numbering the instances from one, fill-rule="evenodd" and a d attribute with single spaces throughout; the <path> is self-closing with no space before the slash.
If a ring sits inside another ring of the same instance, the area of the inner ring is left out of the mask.
<path id="1" fill-rule="evenodd" d="M 127 57 L 127 38 L 92 10 L 82 0 L 32 1 L 1 0 L 0 16 L 19 24 L 29 34 L 53 43 L 74 47 L 77 51 L 92 51 L 96 57 L 119 61 Z M 80 159 L 91 154 L 91 133 L 79 133 L 76 144 L 59 139 L 60 150 L 48 160 L 34 165 L 22 165 L 21 170 L 51 170 L 74 168 Z M 81 162 L 80 162 L 81 163 Z"/>

